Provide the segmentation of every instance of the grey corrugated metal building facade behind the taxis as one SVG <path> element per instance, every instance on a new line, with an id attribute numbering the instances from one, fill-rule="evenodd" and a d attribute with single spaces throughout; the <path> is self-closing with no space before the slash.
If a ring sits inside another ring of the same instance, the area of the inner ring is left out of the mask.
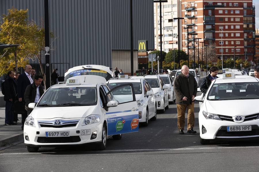
<path id="1" fill-rule="evenodd" d="M 28 9 L 28 20 L 44 26 L 44 0 L 0 0 L 0 15 L 12 7 Z M 51 69 L 64 76 L 71 67 L 100 64 L 130 73 L 129 7 L 130 0 L 49 0 Z M 133 0 L 134 71 L 137 41 L 148 40 L 148 50 L 154 50 L 153 13 L 153 0 Z"/>

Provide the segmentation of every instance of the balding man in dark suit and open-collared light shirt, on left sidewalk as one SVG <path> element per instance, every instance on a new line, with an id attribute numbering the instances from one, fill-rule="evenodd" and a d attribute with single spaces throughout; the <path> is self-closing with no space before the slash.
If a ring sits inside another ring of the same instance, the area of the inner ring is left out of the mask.
<path id="1" fill-rule="evenodd" d="M 24 111 L 22 112 L 22 130 L 24 127 L 25 119 L 28 116 L 25 110 L 24 93 L 25 93 L 26 87 L 33 83 L 33 79 L 31 78 L 31 69 L 32 69 L 31 65 L 27 64 L 24 67 L 24 73 L 19 75 L 17 80 L 18 99 L 20 102 L 24 103 Z"/>

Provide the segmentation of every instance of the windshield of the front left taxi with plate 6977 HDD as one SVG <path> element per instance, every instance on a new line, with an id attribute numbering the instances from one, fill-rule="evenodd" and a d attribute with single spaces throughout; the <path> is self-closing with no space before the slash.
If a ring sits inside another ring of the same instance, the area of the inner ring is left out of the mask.
<path id="1" fill-rule="evenodd" d="M 90 106 L 97 104 L 96 87 L 51 88 L 40 99 L 38 106 Z"/>

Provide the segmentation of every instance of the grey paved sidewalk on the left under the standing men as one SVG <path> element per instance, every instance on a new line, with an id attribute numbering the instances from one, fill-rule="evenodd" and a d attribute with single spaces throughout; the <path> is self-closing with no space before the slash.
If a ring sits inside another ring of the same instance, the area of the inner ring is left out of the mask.
<path id="1" fill-rule="evenodd" d="M 17 125 L 5 126 L 5 107 L 0 107 L 0 149 L 23 140 L 22 115 L 18 114 Z"/>

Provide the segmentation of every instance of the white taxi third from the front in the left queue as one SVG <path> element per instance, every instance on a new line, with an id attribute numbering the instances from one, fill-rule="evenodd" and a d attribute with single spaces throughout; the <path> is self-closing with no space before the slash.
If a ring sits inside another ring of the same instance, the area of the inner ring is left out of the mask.
<path id="1" fill-rule="evenodd" d="M 130 79 L 144 78 L 151 86 L 157 101 L 157 110 L 162 113 L 169 108 L 167 86 L 158 75 L 132 76 Z"/>

